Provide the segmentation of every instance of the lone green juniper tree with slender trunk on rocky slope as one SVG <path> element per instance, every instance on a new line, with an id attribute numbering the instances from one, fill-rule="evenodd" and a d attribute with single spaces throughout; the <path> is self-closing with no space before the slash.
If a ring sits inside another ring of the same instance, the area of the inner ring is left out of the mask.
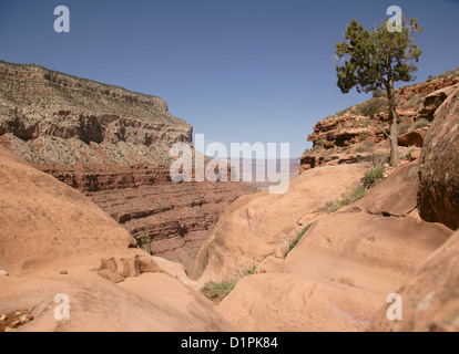
<path id="1" fill-rule="evenodd" d="M 343 93 L 384 90 L 389 102 L 390 163 L 398 165 L 397 103 L 394 83 L 414 81 L 421 50 L 412 43 L 422 30 L 418 20 L 402 20 L 401 32 L 389 32 L 386 22 L 379 28 L 364 29 L 355 19 L 346 29 L 344 42 L 336 43 L 337 85 Z"/>

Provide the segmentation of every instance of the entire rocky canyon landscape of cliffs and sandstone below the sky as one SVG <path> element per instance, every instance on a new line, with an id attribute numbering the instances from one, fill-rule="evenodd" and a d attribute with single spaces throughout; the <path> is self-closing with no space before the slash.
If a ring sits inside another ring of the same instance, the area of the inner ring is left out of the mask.
<path id="1" fill-rule="evenodd" d="M 172 183 L 192 129 L 159 97 L 0 70 L 0 331 L 459 331 L 458 70 L 398 91 L 400 166 L 374 97 L 317 123 L 280 195 Z"/>

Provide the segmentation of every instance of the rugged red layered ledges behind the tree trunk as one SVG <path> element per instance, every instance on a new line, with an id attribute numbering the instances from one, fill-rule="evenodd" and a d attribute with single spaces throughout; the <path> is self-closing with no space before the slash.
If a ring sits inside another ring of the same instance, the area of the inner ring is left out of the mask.
<path id="1" fill-rule="evenodd" d="M 429 126 L 436 110 L 458 83 L 457 69 L 396 91 L 400 155 L 409 154 L 409 147 L 422 145 L 426 129 L 421 127 Z M 387 100 L 377 96 L 318 122 L 307 138 L 314 147 L 302 157 L 302 171 L 356 163 L 375 152 L 387 153 L 389 145 L 385 133 L 389 134 L 389 125 L 386 108 Z M 375 121 L 370 119 L 368 110 L 376 112 Z"/>

